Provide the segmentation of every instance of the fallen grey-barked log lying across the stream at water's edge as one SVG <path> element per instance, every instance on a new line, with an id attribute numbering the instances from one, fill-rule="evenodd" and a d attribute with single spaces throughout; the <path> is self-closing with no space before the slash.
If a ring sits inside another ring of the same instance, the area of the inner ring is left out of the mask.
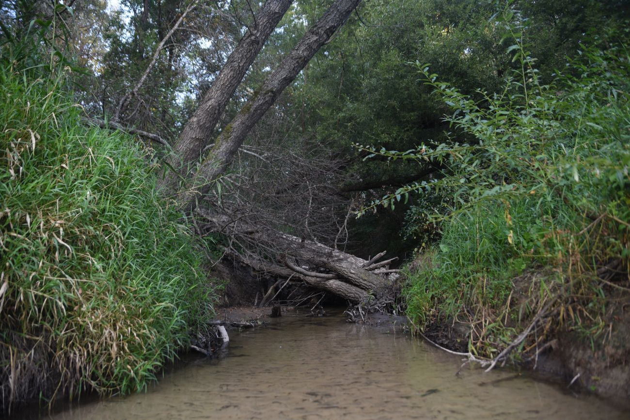
<path id="1" fill-rule="evenodd" d="M 365 302 L 370 297 L 376 299 L 382 297 L 397 276 L 389 273 L 384 273 L 389 276 L 379 275 L 369 271 L 367 266 L 370 265 L 370 261 L 316 241 L 307 241 L 266 227 L 257 227 L 243 219 L 232 219 L 200 208 L 197 209 L 197 213 L 207 222 L 204 229 L 273 248 L 277 253 L 276 260 L 281 262 L 271 263 L 246 258 L 234 250 L 228 250 L 227 254 L 232 258 L 238 258 L 256 271 L 284 278 L 294 277 L 295 280 L 302 280 L 307 285 L 331 292 L 353 303 Z M 309 269 L 292 263 L 287 258 L 289 256 L 307 264 Z M 328 273 L 316 270 L 326 270 Z"/>

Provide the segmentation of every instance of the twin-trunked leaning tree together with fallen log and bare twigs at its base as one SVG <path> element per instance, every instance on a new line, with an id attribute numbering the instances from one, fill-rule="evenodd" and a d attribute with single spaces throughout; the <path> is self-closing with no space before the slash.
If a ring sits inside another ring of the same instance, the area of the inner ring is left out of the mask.
<path id="1" fill-rule="evenodd" d="M 330 193 L 324 193 L 330 190 L 329 186 L 339 181 L 335 178 L 333 170 L 328 171 L 320 167 L 321 171 L 319 169 L 310 171 L 309 177 L 295 179 L 293 176 L 292 181 L 285 182 L 280 187 L 282 189 L 280 194 L 270 193 L 266 195 L 266 200 L 243 200 L 243 194 L 240 199 L 237 195 L 234 200 L 223 200 L 221 203 L 218 200 L 209 200 L 212 187 L 226 173 L 234 158 L 238 156 L 239 150 L 248 152 L 250 156 L 258 155 L 253 150 L 244 148 L 244 141 L 284 89 L 347 21 L 360 0 L 335 0 L 212 142 L 212 133 L 227 103 L 291 3 L 291 0 L 268 0 L 253 16 L 253 24 L 248 26 L 164 159 L 168 170 L 165 171 L 160 186 L 166 193 L 176 198 L 183 211 L 195 218 L 196 229 L 200 234 L 221 232 L 230 238 L 231 246 L 224 249 L 225 256 L 237 259 L 255 271 L 271 273 L 280 278 L 287 278 L 287 281 L 301 281 L 311 287 L 347 298 L 350 302 L 362 302 L 371 297 L 379 298 L 386 294 L 392 275 L 396 275 L 392 273 L 395 270 L 388 269 L 392 260 L 377 263 L 377 258 L 384 255 L 381 253 L 370 261 L 365 261 L 338 249 L 340 232 L 346 227 L 349 213 L 340 211 L 343 205 L 332 202 L 343 200 L 334 198 Z M 193 6 L 185 9 L 175 26 L 181 24 L 183 15 L 188 13 L 191 7 Z M 169 33 L 173 33 L 173 30 Z M 159 51 L 156 51 L 156 54 L 158 53 Z M 155 61 L 155 59 L 151 61 L 143 77 L 146 78 Z M 134 90 L 122 97 L 117 112 L 124 110 L 127 101 L 134 96 L 142 82 L 143 79 L 140 79 Z M 118 124 L 118 116 L 117 113 L 113 123 Z M 140 134 L 150 137 L 149 133 Z M 159 139 L 159 136 L 155 137 Z M 260 155 L 257 157 L 262 158 Z M 318 171 L 321 172 L 319 179 L 313 178 L 313 174 Z M 295 173 L 296 171 L 291 168 L 276 171 L 276 174 L 287 176 Z M 311 185 L 311 180 L 316 185 Z M 237 188 L 246 189 L 242 184 Z M 271 209 L 277 211 L 281 200 L 276 200 L 270 205 L 272 198 L 287 193 L 299 194 L 294 200 L 303 201 L 302 208 L 307 209 L 304 216 L 305 224 L 299 224 L 297 230 L 295 221 L 290 222 L 290 218 L 286 217 L 284 219 L 273 217 L 273 213 L 266 211 Z M 323 203 L 322 196 L 328 197 L 329 202 Z M 243 203 L 248 203 L 248 206 L 244 206 Z M 253 203 L 260 205 L 254 211 Z M 321 210 L 329 207 L 335 209 L 331 210 L 330 215 L 327 210 Z M 341 213 L 343 216 L 340 217 Z M 328 224 L 321 222 L 327 218 Z M 345 222 L 340 224 L 338 222 L 340 218 Z M 270 220 L 274 222 L 270 223 Z M 341 225 L 338 226 L 336 234 L 330 233 L 334 230 L 331 229 L 330 223 L 333 220 L 335 225 Z M 324 234 L 322 231 L 313 235 L 316 225 L 326 226 L 327 229 L 323 231 L 328 233 Z M 288 227 L 290 229 L 287 229 Z M 287 230 L 292 233 L 289 234 Z M 300 230 L 297 236 L 295 233 Z"/>

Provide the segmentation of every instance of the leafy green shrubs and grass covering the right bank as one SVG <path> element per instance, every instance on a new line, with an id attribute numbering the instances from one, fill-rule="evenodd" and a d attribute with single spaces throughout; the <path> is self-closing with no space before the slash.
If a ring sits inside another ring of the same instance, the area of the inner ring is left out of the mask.
<path id="1" fill-rule="evenodd" d="M 610 327 L 610 297 L 630 291 L 630 32 L 610 23 L 543 84 L 520 16 L 496 25 L 519 64 L 499 93 L 462 94 L 415 64 L 452 110 L 450 142 L 362 149 L 444 169 L 372 206 L 421 193 L 415 215 L 432 216 L 414 222 L 440 226 L 404 292 L 421 331 L 466 322 L 469 351 L 493 357 L 537 315 L 536 338 L 520 350 L 559 327 L 595 343 Z"/>

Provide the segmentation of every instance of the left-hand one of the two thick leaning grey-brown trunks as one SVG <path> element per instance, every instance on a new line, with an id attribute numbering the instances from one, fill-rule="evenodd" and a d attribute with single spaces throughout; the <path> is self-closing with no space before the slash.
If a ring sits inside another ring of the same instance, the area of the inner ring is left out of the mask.
<path id="1" fill-rule="evenodd" d="M 292 0 L 268 0 L 263 5 L 256 14 L 255 25 L 239 41 L 201 105 L 186 122 L 168 161 L 182 176 L 201 156 L 229 99 L 291 3 Z M 175 174 L 167 174 L 164 184 L 171 185 L 176 178 Z"/>

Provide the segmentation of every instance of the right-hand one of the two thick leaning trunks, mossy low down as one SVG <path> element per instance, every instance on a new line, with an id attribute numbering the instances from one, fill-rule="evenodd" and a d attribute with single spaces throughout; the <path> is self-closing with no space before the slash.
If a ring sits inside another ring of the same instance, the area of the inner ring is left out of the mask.
<path id="1" fill-rule="evenodd" d="M 265 79 L 263 86 L 256 91 L 236 118 L 221 133 L 210 156 L 202 162 L 193 177 L 192 188 L 185 188 L 180 194 L 179 201 L 183 208 L 191 210 L 195 205 L 195 196 L 209 191 L 212 180 L 226 171 L 249 130 L 273 105 L 280 93 L 289 86 L 319 48 L 343 25 L 360 1 L 336 0 L 319 21 L 306 32 L 277 69 Z M 180 141 L 192 145 L 198 142 L 192 133 L 187 132 L 182 134 Z"/>

